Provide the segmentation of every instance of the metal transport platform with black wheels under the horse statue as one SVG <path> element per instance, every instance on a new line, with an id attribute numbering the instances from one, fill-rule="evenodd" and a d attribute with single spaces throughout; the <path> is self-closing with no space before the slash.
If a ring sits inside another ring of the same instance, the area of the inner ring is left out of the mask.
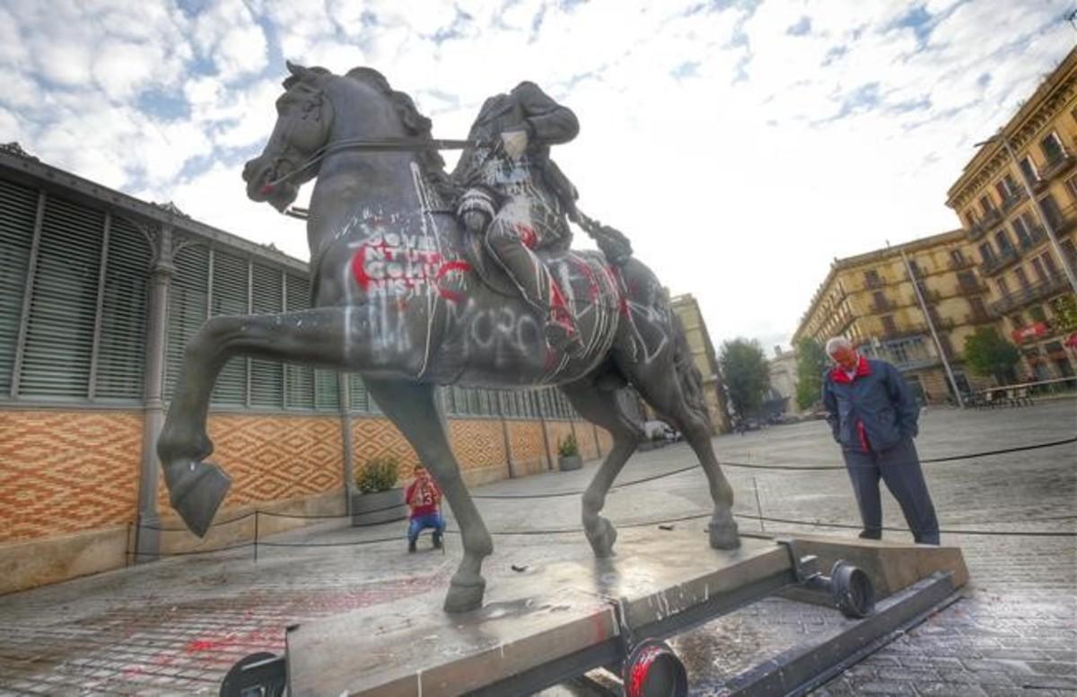
<path id="1" fill-rule="evenodd" d="M 863 617 L 728 685 L 733 694 L 800 694 L 952 601 L 967 581 L 955 547 L 745 536 L 726 552 L 698 530 L 632 532 L 612 558 L 491 577 L 473 612 L 445 613 L 438 591 L 295 625 L 284 656 L 240 662 L 221 694 L 529 695 L 604 668 L 631 697 L 683 695 L 684 667 L 661 640 L 774 594 Z"/>

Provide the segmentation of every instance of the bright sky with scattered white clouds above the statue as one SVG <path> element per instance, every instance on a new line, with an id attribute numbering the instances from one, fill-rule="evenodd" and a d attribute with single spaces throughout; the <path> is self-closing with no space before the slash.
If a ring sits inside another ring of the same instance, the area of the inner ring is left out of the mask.
<path id="1" fill-rule="evenodd" d="M 240 180 L 285 58 L 377 68 L 442 138 L 532 80 L 579 117 L 554 155 L 581 208 L 627 232 L 671 293 L 694 294 L 716 342 L 769 348 L 834 257 L 957 226 L 947 188 L 1074 45 L 1074 9 L 0 0 L 0 142 L 306 259 L 303 224 L 248 201 Z"/>

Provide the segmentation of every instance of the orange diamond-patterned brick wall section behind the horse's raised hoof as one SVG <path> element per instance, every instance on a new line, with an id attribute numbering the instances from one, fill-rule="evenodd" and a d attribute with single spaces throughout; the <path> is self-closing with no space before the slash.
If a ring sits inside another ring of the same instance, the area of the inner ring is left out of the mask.
<path id="1" fill-rule="evenodd" d="M 209 437 L 214 450 L 208 461 L 232 478 L 222 510 L 344 486 L 338 417 L 211 414 Z M 162 514 L 174 515 L 163 481 L 158 503 Z"/>

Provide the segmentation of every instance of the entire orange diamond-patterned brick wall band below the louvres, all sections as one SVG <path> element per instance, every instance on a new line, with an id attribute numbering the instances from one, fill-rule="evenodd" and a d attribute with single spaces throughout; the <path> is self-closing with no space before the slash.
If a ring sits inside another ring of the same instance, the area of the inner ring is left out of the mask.
<path id="1" fill-rule="evenodd" d="M 542 424 L 507 421 L 514 473 L 547 469 Z M 549 457 L 572 432 L 546 422 Z M 508 475 L 505 432 L 499 419 L 451 419 L 449 438 L 464 473 L 475 481 Z M 222 509 L 299 499 L 344 485 L 340 421 L 336 416 L 212 414 L 210 461 L 233 480 Z M 598 455 L 595 429 L 576 423 L 585 459 Z M 612 440 L 598 429 L 602 453 Z M 352 419 L 354 468 L 370 457 L 395 455 L 404 481 L 418 457 L 384 418 Z M 142 414 L 121 411 L 0 411 L 0 543 L 124 525 L 136 520 Z M 162 515 L 174 518 L 164 481 Z"/>

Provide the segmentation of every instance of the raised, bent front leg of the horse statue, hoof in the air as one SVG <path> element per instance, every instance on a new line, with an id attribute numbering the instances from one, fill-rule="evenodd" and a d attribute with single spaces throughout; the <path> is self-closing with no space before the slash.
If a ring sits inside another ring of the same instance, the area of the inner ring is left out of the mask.
<path id="1" fill-rule="evenodd" d="M 408 369 L 409 352 L 389 351 L 372 339 L 370 315 L 322 308 L 276 315 L 211 317 L 187 343 L 168 416 L 157 439 L 172 508 L 205 536 L 229 480 L 202 460 L 213 452 L 206 415 L 218 373 L 234 356 L 313 364 L 338 370 Z M 401 365 L 395 365 L 394 361 Z"/>

